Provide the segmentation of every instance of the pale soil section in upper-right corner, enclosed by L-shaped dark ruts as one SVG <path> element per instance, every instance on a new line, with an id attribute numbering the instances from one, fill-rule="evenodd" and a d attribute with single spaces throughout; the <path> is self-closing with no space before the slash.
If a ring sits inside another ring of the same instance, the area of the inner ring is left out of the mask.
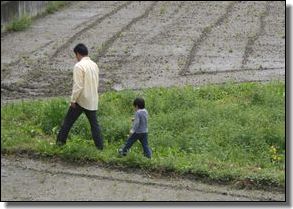
<path id="1" fill-rule="evenodd" d="M 274 6 L 274 8 L 270 8 L 270 13 L 280 14 L 282 4 L 275 2 Z M 268 33 L 265 32 L 267 28 L 272 27 L 266 23 L 270 17 L 270 15 L 264 16 L 266 10 L 266 2 L 239 2 L 235 5 L 231 15 L 223 24 L 214 28 L 209 37 L 201 44 L 189 67 L 189 73 L 229 72 L 234 69 L 244 69 L 244 71 L 245 69 L 279 69 L 282 67 L 284 71 L 285 62 L 281 58 L 282 52 L 284 52 L 282 39 L 267 36 Z M 263 22 L 261 28 L 264 31 L 257 36 L 261 19 Z M 276 31 L 282 37 L 281 30 Z M 266 52 L 264 49 L 267 49 Z M 272 56 L 273 53 L 275 56 Z M 245 54 L 247 64 L 243 65 Z"/>

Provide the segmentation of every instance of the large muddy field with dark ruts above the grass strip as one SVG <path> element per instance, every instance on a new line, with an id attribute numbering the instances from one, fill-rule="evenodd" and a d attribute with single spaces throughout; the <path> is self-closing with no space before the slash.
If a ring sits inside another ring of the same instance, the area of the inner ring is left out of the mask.
<path id="1" fill-rule="evenodd" d="M 73 47 L 100 91 L 285 78 L 285 2 L 74 2 L 1 34 L 1 101 L 68 96 Z"/>

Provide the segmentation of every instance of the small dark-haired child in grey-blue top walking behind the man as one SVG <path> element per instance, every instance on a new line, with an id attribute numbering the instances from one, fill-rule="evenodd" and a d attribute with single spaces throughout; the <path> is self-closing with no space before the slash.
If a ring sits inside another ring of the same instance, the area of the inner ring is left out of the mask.
<path id="1" fill-rule="evenodd" d="M 133 102 L 135 109 L 135 118 L 133 121 L 132 128 L 130 130 L 129 138 L 123 148 L 118 150 L 120 155 L 126 156 L 128 150 L 131 148 L 133 143 L 138 139 L 142 144 L 144 155 L 151 158 L 152 151 L 148 146 L 148 112 L 145 109 L 145 102 L 142 98 L 136 98 Z"/>

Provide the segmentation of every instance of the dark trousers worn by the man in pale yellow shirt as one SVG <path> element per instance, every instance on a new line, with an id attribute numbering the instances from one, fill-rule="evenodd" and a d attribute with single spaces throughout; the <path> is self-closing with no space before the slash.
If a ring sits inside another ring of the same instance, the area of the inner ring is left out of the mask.
<path id="1" fill-rule="evenodd" d="M 90 125 L 91 125 L 91 132 L 92 137 L 94 139 L 95 145 L 98 149 L 103 149 L 103 138 L 101 136 L 100 127 L 97 121 L 97 111 L 90 111 L 87 109 L 84 109 L 79 104 L 76 103 L 76 107 L 73 108 L 70 106 L 67 115 L 65 116 L 63 125 L 61 126 L 61 129 L 57 136 L 56 144 L 63 145 L 66 143 L 68 133 L 73 126 L 74 122 L 78 119 L 78 117 L 81 115 L 81 113 L 85 113 L 86 117 L 88 118 Z"/>

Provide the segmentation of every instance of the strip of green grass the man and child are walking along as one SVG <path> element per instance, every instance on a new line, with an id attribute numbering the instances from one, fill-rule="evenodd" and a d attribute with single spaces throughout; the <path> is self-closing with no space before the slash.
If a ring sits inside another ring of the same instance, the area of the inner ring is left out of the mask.
<path id="1" fill-rule="evenodd" d="M 1 152 L 33 152 L 70 161 L 175 172 L 217 182 L 252 182 L 282 188 L 285 182 L 285 87 L 283 82 L 150 88 L 100 95 L 98 118 L 105 149 L 95 149 L 84 115 L 66 146 L 56 133 L 68 102 L 62 98 L 7 104 L 1 108 Z M 143 96 L 149 111 L 151 160 L 136 143 L 125 142 L 133 117 L 132 101 Z"/>

